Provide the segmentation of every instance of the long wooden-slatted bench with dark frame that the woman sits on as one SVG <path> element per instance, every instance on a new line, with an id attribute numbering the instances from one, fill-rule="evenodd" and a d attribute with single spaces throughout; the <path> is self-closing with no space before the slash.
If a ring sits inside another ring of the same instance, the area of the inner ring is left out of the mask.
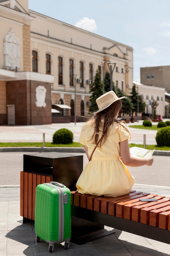
<path id="1" fill-rule="evenodd" d="M 131 190 L 119 197 L 71 192 L 74 217 L 170 244 L 170 198 Z M 156 198 L 141 202 L 140 198 Z"/>

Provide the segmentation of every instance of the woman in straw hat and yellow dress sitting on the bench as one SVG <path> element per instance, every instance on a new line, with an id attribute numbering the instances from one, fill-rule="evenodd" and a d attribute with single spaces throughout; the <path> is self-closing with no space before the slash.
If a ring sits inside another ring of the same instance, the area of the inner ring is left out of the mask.
<path id="1" fill-rule="evenodd" d="M 90 160 L 77 181 L 82 194 L 115 197 L 130 192 L 134 177 L 127 166 L 151 166 L 153 157 L 130 155 L 130 133 L 124 121 L 117 121 L 121 99 L 115 92 L 106 92 L 96 99 L 99 110 L 83 126 L 79 143 L 84 145 Z"/>

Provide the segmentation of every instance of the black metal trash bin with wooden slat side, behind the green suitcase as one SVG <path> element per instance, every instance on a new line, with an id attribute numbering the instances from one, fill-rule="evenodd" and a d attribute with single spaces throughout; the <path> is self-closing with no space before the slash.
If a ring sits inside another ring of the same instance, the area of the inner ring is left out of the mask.
<path id="1" fill-rule="evenodd" d="M 23 222 L 35 220 L 35 189 L 38 184 L 57 181 L 71 191 L 83 170 L 83 155 L 42 152 L 24 155 L 20 174 L 20 215 Z"/>

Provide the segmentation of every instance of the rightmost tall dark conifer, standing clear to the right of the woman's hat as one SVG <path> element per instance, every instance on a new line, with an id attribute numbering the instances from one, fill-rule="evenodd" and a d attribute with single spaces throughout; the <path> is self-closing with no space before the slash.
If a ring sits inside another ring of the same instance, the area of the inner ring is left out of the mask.
<path id="1" fill-rule="evenodd" d="M 144 112 L 146 103 L 143 101 L 141 95 L 136 92 L 135 85 L 133 85 L 132 92 L 130 92 L 130 94 L 131 94 L 130 99 L 133 104 L 133 107 L 131 109 L 131 111 L 132 111 L 131 118 L 133 118 L 134 112 L 137 112 L 137 102 L 138 102 L 138 106 L 139 106 L 139 113 Z M 137 98 L 138 98 L 138 100 L 137 100 Z"/>

